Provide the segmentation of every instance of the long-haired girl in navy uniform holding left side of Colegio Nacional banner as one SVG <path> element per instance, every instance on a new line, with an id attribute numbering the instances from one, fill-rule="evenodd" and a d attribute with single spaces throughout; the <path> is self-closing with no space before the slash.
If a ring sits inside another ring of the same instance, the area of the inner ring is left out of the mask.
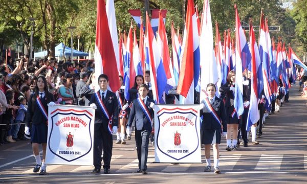
<path id="1" fill-rule="evenodd" d="M 25 134 L 30 135 L 29 127 L 32 123 L 31 143 L 36 160 L 33 172 L 37 173 L 40 169 L 39 175 L 47 174 L 45 158 L 48 134 L 48 105 L 53 106 L 54 104 L 54 97 L 48 91 L 46 78 L 39 76 L 36 80 L 34 93 L 30 96 L 25 127 Z M 42 144 L 42 160 L 39 155 L 40 144 Z"/>

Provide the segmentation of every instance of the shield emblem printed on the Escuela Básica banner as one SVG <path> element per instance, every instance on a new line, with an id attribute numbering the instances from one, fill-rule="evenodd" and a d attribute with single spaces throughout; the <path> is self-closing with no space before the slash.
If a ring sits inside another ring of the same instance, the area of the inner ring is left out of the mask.
<path id="1" fill-rule="evenodd" d="M 155 123 L 157 149 L 170 158 L 181 160 L 200 146 L 198 111 L 194 109 L 162 108 Z"/>

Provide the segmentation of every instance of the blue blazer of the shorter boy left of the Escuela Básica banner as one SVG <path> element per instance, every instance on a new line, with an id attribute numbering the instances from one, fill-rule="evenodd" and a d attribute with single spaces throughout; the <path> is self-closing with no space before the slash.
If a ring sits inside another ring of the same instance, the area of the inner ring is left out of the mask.
<path id="1" fill-rule="evenodd" d="M 150 102 L 155 103 L 155 101 L 147 97 L 145 106 L 147 110 L 149 111 L 151 118 L 153 119 L 153 116 L 155 115 L 153 113 L 153 109 L 149 106 Z M 152 130 L 152 125 L 150 121 L 148 120 L 146 114 L 144 113 L 142 107 L 140 106 L 138 99 L 135 99 L 133 101 L 131 112 L 130 112 L 129 119 L 128 119 L 128 126 L 132 125 L 134 119 L 135 119 L 135 126 L 137 127 L 137 130 L 142 130 L 143 127 L 147 131 Z"/>

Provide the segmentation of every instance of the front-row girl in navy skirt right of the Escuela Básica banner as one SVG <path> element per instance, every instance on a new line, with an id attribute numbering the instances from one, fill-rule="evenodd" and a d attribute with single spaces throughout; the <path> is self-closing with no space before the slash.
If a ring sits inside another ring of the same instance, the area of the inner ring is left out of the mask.
<path id="1" fill-rule="evenodd" d="M 215 96 L 215 85 L 209 83 L 207 85 L 208 99 L 201 102 L 200 113 L 203 115 L 201 127 L 201 139 L 205 144 L 206 164 L 205 172 L 211 171 L 210 147 L 213 147 L 214 173 L 221 173 L 218 167 L 218 157 L 220 151 L 218 145 L 221 144 L 221 134 L 226 134 L 227 120 L 224 102 Z M 225 129 L 224 129 L 225 127 Z"/>

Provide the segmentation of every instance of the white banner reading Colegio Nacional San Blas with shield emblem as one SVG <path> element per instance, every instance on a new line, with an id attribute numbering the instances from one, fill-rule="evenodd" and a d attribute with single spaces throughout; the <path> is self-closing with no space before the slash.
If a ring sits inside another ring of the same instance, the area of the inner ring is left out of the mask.
<path id="1" fill-rule="evenodd" d="M 94 120 L 89 106 L 49 106 L 46 163 L 92 166 Z"/>

